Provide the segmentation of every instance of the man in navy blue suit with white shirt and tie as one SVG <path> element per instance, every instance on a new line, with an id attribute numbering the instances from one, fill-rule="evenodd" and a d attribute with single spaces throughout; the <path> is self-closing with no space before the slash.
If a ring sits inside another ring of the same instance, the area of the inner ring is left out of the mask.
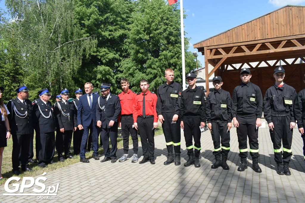
<path id="1" fill-rule="evenodd" d="M 84 129 L 83 137 L 81 140 L 80 161 L 83 163 L 89 163 L 89 160 L 85 157 L 86 141 L 88 139 L 89 130 L 92 131 L 93 142 L 93 158 L 99 160 L 98 156 L 98 127 L 96 126 L 96 103 L 99 98 L 98 94 L 92 94 L 93 86 L 91 82 L 85 83 L 85 92 L 83 96 L 79 98 L 77 109 L 77 127 L 78 129 Z"/>

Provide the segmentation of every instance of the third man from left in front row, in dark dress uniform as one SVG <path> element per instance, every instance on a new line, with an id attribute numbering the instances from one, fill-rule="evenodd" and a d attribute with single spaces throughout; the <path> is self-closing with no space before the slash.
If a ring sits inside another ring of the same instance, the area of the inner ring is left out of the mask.
<path id="1" fill-rule="evenodd" d="M 59 134 L 56 134 L 55 144 L 58 154 L 58 160 L 60 162 L 65 159 L 74 158 L 69 149 L 72 141 L 72 133 L 76 131 L 77 120 L 74 109 L 74 104 L 69 102 L 69 90 L 67 88 L 61 91 L 61 101 L 58 101 L 54 105 L 54 114 L 56 116 L 57 126 Z M 65 156 L 63 156 L 63 152 Z"/>

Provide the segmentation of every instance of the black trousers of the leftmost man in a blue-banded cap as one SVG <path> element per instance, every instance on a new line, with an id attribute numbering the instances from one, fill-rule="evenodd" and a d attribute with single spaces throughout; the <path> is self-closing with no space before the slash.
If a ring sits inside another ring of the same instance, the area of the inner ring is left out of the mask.
<path id="1" fill-rule="evenodd" d="M 19 165 L 21 162 L 21 169 L 29 166 L 28 155 L 30 148 L 30 137 L 31 134 L 25 135 L 12 135 L 13 139 L 13 150 L 12 150 L 12 164 L 13 170 L 19 170 Z M 20 158 L 19 158 L 20 154 Z M 20 162 L 19 162 L 20 160 Z"/>

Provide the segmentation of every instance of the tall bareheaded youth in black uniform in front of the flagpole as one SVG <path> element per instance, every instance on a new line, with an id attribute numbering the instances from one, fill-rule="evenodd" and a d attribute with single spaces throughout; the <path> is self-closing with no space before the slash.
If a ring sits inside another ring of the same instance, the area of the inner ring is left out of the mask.
<path id="1" fill-rule="evenodd" d="M 180 165 L 180 108 L 181 108 L 181 85 L 174 82 L 174 71 L 170 68 L 165 70 L 166 82 L 157 90 L 156 111 L 159 121 L 162 123 L 163 133 L 167 148 L 167 160 L 163 163 L 169 165 L 175 160 L 175 165 Z M 173 155 L 173 146 L 175 156 Z"/>

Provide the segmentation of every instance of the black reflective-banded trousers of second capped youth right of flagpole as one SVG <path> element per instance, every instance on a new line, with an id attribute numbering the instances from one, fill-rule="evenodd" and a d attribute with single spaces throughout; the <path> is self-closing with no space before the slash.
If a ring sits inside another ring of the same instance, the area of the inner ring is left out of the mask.
<path id="1" fill-rule="evenodd" d="M 212 124 L 212 139 L 214 143 L 214 156 L 222 156 L 228 157 L 228 153 L 230 151 L 230 131 L 228 130 L 228 123 L 216 123 L 211 122 Z M 221 147 L 220 147 L 221 143 Z"/>

